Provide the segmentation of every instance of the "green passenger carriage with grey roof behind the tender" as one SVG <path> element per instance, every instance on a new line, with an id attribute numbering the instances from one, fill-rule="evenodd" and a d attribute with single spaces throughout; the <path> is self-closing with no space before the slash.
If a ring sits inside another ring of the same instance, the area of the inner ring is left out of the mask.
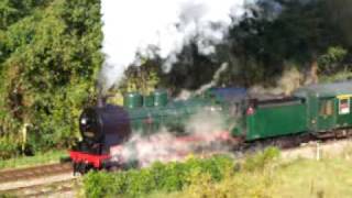
<path id="1" fill-rule="evenodd" d="M 352 81 L 308 86 L 294 95 L 306 99 L 307 131 L 322 133 L 352 127 Z"/>

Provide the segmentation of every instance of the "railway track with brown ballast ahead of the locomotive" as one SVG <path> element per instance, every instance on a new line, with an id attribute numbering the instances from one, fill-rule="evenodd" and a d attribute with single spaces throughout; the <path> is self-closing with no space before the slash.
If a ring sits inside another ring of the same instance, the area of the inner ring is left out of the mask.
<path id="1" fill-rule="evenodd" d="M 77 177 L 72 173 L 70 163 L 0 170 L 0 197 L 47 197 L 73 191 Z"/>

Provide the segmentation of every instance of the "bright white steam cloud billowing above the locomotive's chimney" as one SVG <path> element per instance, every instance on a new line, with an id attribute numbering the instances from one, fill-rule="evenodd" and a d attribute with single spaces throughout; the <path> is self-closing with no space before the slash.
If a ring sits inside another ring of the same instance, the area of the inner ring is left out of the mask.
<path id="1" fill-rule="evenodd" d="M 103 91 L 121 80 L 130 64 L 139 64 L 136 53 L 150 56 L 150 46 L 156 46 L 166 59 L 166 70 L 191 38 L 197 38 L 201 53 L 213 53 L 213 44 L 226 35 L 231 16 L 243 13 L 243 1 L 102 0 L 106 61 L 99 82 Z"/>

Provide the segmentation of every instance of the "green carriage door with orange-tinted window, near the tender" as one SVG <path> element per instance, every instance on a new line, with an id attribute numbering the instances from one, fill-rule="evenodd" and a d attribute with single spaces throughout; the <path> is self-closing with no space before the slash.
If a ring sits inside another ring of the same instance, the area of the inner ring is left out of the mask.
<path id="1" fill-rule="evenodd" d="M 319 99 L 318 131 L 328 131 L 334 128 L 334 98 Z"/>

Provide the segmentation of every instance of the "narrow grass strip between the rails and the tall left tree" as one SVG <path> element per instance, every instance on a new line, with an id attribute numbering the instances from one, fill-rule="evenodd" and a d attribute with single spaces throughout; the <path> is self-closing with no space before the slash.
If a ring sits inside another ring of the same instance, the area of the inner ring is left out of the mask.
<path id="1" fill-rule="evenodd" d="M 45 153 L 37 153 L 35 156 L 19 156 L 4 161 L 0 160 L 0 169 L 58 163 L 59 160 L 65 156 L 68 156 L 67 151 L 48 151 Z"/>

